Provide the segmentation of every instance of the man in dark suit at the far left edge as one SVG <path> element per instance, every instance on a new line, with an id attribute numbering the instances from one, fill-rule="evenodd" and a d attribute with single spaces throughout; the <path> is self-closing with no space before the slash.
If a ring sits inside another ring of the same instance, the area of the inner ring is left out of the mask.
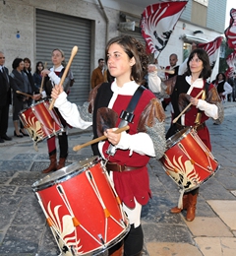
<path id="1" fill-rule="evenodd" d="M 9 105 L 12 103 L 9 72 L 5 64 L 5 56 L 0 51 L 0 143 L 11 141 L 7 136 Z"/>

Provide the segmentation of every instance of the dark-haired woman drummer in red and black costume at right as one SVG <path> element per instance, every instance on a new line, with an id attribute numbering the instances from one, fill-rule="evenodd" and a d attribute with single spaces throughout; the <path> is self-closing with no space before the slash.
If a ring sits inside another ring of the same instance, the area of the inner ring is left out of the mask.
<path id="1" fill-rule="evenodd" d="M 211 151 L 209 132 L 206 121 L 209 117 L 223 120 L 223 106 L 212 84 L 207 84 L 207 78 L 210 77 L 211 68 L 207 52 L 204 49 L 197 48 L 193 50 L 187 62 L 187 72 L 182 76 L 175 76 L 168 81 L 150 80 L 148 87 L 158 96 L 169 95 L 172 104 L 172 120 L 178 117 L 181 109 L 191 102 L 192 106 L 181 115 L 175 122 L 171 122 L 167 131 L 166 139 L 185 127 L 193 126 L 198 132 L 199 137 Z M 197 95 L 204 90 L 202 96 Z M 192 222 L 195 219 L 195 211 L 199 188 L 194 189 L 183 196 L 183 209 L 187 210 L 186 220 Z M 174 207 L 171 213 L 178 214 L 183 209 Z"/>

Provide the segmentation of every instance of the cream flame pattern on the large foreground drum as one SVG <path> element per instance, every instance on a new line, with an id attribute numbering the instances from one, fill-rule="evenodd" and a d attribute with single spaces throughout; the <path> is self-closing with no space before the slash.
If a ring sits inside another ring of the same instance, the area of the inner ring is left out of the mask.
<path id="1" fill-rule="evenodd" d="M 59 210 L 61 205 L 55 206 L 53 211 L 51 209 L 51 201 L 47 205 L 47 213 L 52 222 L 52 232 L 61 248 L 63 255 L 73 256 L 71 249 L 76 250 L 76 253 L 82 248 L 79 246 L 80 239 L 77 241 L 76 228 L 73 224 L 72 217 L 70 215 L 65 215 L 62 218 L 59 215 Z"/>

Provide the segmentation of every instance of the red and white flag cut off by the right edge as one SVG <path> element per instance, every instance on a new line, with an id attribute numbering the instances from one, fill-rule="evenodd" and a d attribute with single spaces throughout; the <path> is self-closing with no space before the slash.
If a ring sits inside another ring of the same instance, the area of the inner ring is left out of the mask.
<path id="1" fill-rule="evenodd" d="M 229 48 L 236 50 L 236 9 L 230 10 L 229 27 L 224 31 Z"/>

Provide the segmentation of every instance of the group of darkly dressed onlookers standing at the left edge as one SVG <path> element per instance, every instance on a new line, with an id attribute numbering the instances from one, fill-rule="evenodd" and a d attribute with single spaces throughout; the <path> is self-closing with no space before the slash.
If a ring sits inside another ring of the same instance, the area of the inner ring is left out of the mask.
<path id="1" fill-rule="evenodd" d="M 0 143 L 12 140 L 7 135 L 10 105 L 13 112 L 14 135 L 19 138 L 29 136 L 20 122 L 19 113 L 31 104 L 30 96 L 39 92 L 40 72 L 43 69 L 43 64 L 39 61 L 32 74 L 29 58 L 15 58 L 11 72 L 4 64 L 5 55 L 0 51 Z"/>

